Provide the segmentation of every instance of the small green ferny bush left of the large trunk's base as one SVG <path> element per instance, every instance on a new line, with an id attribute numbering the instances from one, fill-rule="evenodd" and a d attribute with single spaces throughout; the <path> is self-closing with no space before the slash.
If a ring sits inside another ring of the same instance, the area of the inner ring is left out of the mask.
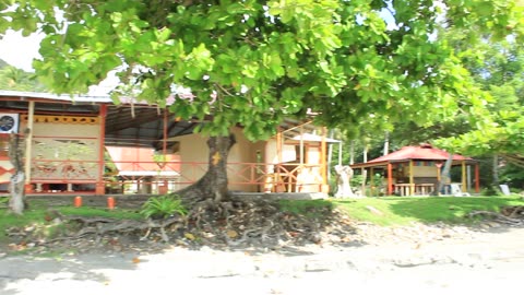
<path id="1" fill-rule="evenodd" d="M 174 214 L 186 215 L 188 210 L 177 194 L 150 198 L 140 211 L 146 219 L 165 219 Z"/>

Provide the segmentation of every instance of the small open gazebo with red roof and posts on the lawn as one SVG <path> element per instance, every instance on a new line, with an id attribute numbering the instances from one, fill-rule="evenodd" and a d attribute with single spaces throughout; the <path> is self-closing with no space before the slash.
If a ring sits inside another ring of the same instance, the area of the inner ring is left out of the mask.
<path id="1" fill-rule="evenodd" d="M 436 149 L 430 144 L 419 146 L 404 146 L 391 154 L 371 160 L 366 163 L 350 165 L 354 169 L 369 169 L 370 179 L 374 175 L 374 169 L 385 170 L 384 177 L 388 184 L 388 194 L 400 196 L 427 196 L 436 191 L 444 163 L 450 154 L 443 150 Z M 475 191 L 479 192 L 479 168 L 478 163 L 467 156 L 454 154 L 452 156 L 452 166 L 462 167 L 462 179 L 457 184 L 462 186 L 462 191 L 466 192 L 471 184 L 471 169 L 475 172 Z M 451 181 L 451 180 L 450 180 Z"/>

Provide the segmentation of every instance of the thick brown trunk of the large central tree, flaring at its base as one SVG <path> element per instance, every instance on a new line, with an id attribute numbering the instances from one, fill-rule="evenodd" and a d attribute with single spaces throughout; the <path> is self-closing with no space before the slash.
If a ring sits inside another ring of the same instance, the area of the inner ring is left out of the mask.
<path id="1" fill-rule="evenodd" d="M 207 146 L 210 148 L 207 172 L 199 181 L 179 190 L 177 193 L 190 201 L 212 199 L 215 202 L 221 202 L 227 200 L 227 156 L 235 143 L 234 134 L 210 137 L 207 140 Z"/>

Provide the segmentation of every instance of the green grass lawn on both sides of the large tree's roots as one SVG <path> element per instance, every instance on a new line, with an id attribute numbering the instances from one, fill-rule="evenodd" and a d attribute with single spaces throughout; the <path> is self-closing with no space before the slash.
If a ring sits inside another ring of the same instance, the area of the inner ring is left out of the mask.
<path id="1" fill-rule="evenodd" d="M 33 200 L 24 215 L 9 212 L 5 202 L 0 203 L 0 241 L 5 241 L 5 229 L 12 226 L 51 226 L 49 206 L 45 201 Z M 475 210 L 498 211 L 504 205 L 524 205 L 522 197 L 382 197 L 355 200 L 281 200 L 279 210 L 309 217 L 330 214 L 334 208 L 345 211 L 352 219 L 372 222 L 378 225 L 409 225 L 412 222 L 471 223 L 464 216 Z M 369 208 L 380 211 L 373 213 Z M 66 215 L 104 216 L 114 219 L 142 219 L 136 210 L 100 208 L 53 206 L 52 210 Z M 47 216 L 47 217 L 46 217 Z M 52 231 L 50 231 L 52 232 Z"/>

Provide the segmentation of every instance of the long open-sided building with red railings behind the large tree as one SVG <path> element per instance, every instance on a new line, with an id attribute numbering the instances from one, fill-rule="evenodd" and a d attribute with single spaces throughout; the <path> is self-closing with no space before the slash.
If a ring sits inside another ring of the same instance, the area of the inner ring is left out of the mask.
<path id="1" fill-rule="evenodd" d="M 196 181 L 207 168 L 201 122 L 167 108 L 122 98 L 0 92 L 0 192 L 13 166 L 11 133 L 24 134 L 27 193 L 165 193 Z M 267 141 L 250 142 L 233 128 L 231 190 L 326 192 L 325 128 L 285 120 Z"/>

